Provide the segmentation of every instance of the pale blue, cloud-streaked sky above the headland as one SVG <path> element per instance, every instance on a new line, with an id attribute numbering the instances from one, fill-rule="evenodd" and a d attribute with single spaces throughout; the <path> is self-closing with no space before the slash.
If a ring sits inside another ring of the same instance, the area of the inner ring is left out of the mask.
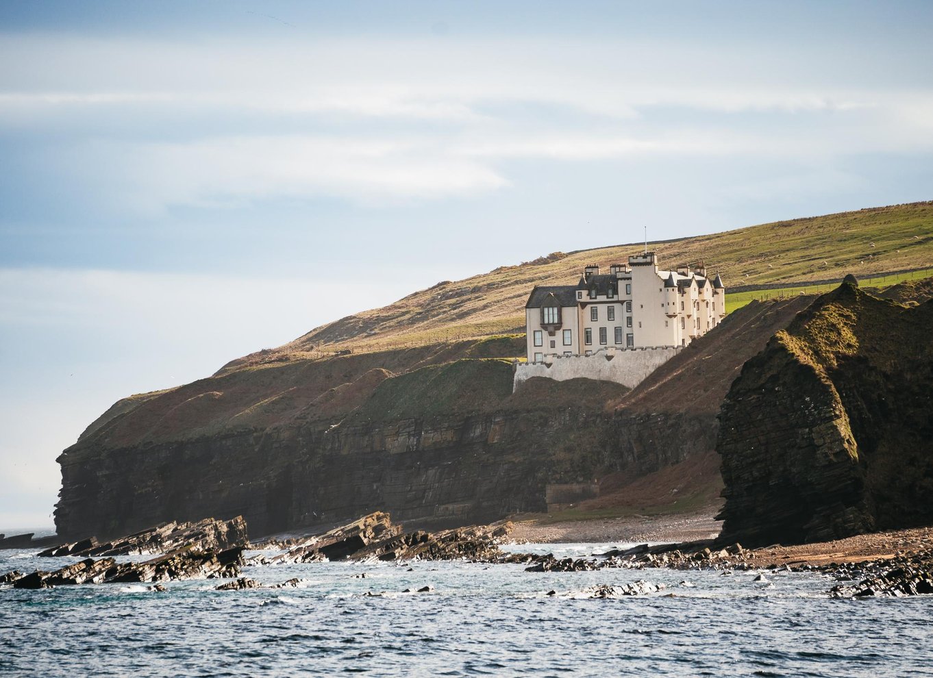
<path id="1" fill-rule="evenodd" d="M 0 2 L 0 531 L 128 394 L 555 251 L 933 198 L 933 3 Z"/>

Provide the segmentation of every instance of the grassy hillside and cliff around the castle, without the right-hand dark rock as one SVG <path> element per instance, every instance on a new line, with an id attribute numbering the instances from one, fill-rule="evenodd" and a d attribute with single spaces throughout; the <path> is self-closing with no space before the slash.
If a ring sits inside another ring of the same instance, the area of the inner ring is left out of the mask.
<path id="1" fill-rule="evenodd" d="M 727 282 L 803 280 L 856 262 L 894 270 L 928 261 L 931 224 L 933 202 L 921 202 L 656 249 L 671 262 L 706 258 Z M 805 298 L 731 313 L 631 393 L 530 380 L 511 394 L 511 368 L 495 360 L 523 354 L 523 335 L 502 333 L 523 331 L 534 284 L 573 282 L 583 265 L 641 246 L 444 281 L 206 379 L 125 398 L 59 457 L 59 533 L 104 539 L 160 521 L 243 515 L 256 536 L 372 510 L 415 524 L 488 522 L 544 510 L 552 485 L 599 481 L 593 501 L 621 505 L 633 480 L 655 473 L 659 495 L 689 477 L 697 501 L 708 501 L 721 486 L 706 462 L 729 384 Z"/>

